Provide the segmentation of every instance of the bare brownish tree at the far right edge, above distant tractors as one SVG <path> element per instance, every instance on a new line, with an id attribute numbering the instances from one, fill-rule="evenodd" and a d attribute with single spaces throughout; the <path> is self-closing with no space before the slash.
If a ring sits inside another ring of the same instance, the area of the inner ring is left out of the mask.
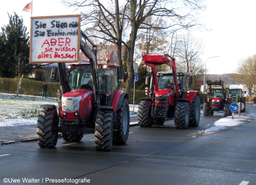
<path id="1" fill-rule="evenodd" d="M 229 74 L 235 81 L 244 85 L 249 92 L 254 90 L 256 84 L 256 55 L 242 58 L 238 61 L 236 74 Z M 250 95 L 251 96 L 251 95 Z"/>

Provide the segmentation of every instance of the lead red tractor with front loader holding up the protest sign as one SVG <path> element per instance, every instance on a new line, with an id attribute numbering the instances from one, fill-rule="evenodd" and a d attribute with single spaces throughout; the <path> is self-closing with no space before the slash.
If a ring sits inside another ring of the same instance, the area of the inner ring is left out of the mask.
<path id="1" fill-rule="evenodd" d="M 58 64 L 59 105 L 46 104 L 38 115 L 37 141 L 41 148 L 54 148 L 58 133 L 65 141 L 78 142 L 84 133 L 95 134 L 95 149 L 109 151 L 113 143 L 126 143 L 130 114 L 128 95 L 119 90 L 122 67 L 97 64 L 97 45 L 82 31 L 80 49 L 88 63 Z M 108 60 L 109 61 L 109 58 Z M 52 79 L 56 77 L 52 70 Z M 58 111 L 59 110 L 59 111 Z M 59 114 L 58 114 L 59 112 Z"/>

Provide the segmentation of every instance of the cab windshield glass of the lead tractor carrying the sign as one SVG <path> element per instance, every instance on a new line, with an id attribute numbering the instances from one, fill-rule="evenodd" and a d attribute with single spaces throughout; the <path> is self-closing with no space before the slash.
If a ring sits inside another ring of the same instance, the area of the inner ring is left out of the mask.
<path id="1" fill-rule="evenodd" d="M 98 69 L 98 73 L 99 73 L 100 86 L 105 86 L 103 71 L 101 69 Z M 91 66 L 77 65 L 75 69 L 73 69 L 69 73 L 68 84 L 71 90 L 75 90 L 75 89 L 93 90 Z"/>

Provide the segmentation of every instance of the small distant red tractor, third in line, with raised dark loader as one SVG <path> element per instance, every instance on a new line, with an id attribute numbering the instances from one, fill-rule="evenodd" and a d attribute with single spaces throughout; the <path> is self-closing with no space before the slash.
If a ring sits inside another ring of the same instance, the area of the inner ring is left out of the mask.
<path id="1" fill-rule="evenodd" d="M 230 116 L 232 112 L 229 110 L 229 105 L 232 103 L 232 100 L 229 97 L 229 88 L 223 87 L 221 78 L 219 81 L 211 81 L 207 79 L 206 82 L 209 89 L 207 92 L 207 99 L 204 101 L 204 116 L 213 115 L 214 111 L 223 111 L 225 117 Z M 212 85 L 220 85 L 221 87 L 212 87 Z"/>

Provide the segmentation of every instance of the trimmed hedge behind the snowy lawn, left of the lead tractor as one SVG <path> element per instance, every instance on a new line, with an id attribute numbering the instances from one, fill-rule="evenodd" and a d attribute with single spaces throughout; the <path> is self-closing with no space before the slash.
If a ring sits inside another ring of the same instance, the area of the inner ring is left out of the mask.
<path id="1" fill-rule="evenodd" d="M 16 94 L 17 92 L 17 78 L 0 78 L 0 90 L 1 93 Z M 28 79 L 21 79 L 19 94 L 42 96 L 43 90 L 42 81 L 34 81 Z M 56 97 L 57 90 L 60 89 L 60 83 L 47 82 L 48 90 L 46 96 Z"/>

